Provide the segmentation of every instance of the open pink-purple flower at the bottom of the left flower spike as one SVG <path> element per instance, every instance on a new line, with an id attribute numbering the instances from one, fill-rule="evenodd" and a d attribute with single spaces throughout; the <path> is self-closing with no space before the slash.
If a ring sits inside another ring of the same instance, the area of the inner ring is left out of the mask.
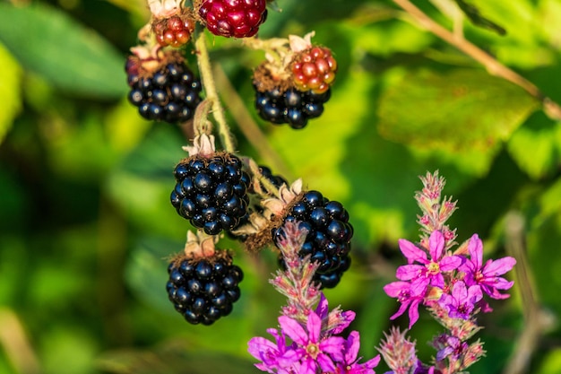
<path id="1" fill-rule="evenodd" d="M 279 317 L 281 330 L 294 341 L 296 347 L 289 350 L 279 359 L 283 367 L 299 362 L 300 374 L 315 374 L 318 366 L 326 372 L 334 372 L 334 361 L 342 361 L 342 348 L 345 339 L 341 336 L 320 336 L 322 329 L 322 319 L 314 312 L 310 311 L 307 318 L 306 329 L 293 318 Z M 286 365 L 285 365 L 286 364 Z"/>

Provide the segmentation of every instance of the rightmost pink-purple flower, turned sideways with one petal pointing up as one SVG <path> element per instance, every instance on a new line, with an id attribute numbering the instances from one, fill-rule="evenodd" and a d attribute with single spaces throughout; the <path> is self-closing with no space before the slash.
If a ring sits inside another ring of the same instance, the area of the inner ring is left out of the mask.
<path id="1" fill-rule="evenodd" d="M 479 285 L 481 291 L 487 293 L 493 299 L 506 299 L 510 295 L 500 293 L 498 290 L 508 290 L 514 282 L 508 282 L 499 275 L 512 270 L 516 265 L 514 257 L 503 257 L 498 260 L 488 260 L 483 265 L 483 243 L 477 234 L 473 234 L 468 243 L 470 259 L 467 259 L 459 268 L 465 273 L 464 282 L 468 286 Z"/>

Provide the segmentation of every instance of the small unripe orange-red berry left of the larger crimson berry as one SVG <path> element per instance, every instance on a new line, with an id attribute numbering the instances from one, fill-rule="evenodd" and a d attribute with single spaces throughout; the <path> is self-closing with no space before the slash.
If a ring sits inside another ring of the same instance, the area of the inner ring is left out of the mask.
<path id="1" fill-rule="evenodd" d="M 156 40 L 162 47 L 181 47 L 191 39 L 194 30 L 194 20 L 190 15 L 175 14 L 152 23 L 152 30 Z"/>

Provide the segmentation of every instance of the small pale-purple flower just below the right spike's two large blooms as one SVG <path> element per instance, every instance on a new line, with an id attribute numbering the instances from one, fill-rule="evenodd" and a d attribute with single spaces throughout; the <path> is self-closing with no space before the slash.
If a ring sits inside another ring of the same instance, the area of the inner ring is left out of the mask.
<path id="1" fill-rule="evenodd" d="M 444 293 L 438 302 L 443 308 L 448 309 L 449 317 L 469 319 L 475 304 L 481 299 L 483 293 L 479 285 L 468 288 L 465 283 L 458 281 L 453 284 L 452 294 Z"/>

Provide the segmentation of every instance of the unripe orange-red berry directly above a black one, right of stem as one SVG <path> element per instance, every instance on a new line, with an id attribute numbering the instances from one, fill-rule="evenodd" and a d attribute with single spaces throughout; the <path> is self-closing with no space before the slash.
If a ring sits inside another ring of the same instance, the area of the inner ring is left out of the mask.
<path id="1" fill-rule="evenodd" d="M 337 61 L 329 48 L 314 46 L 298 52 L 290 67 L 298 91 L 324 93 L 335 80 Z"/>

